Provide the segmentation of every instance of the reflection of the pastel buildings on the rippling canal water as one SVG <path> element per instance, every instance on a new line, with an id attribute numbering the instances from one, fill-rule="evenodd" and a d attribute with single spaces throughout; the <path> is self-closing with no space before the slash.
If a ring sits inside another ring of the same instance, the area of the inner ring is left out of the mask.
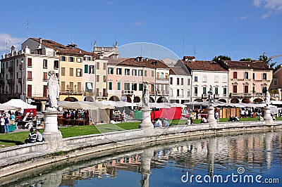
<path id="1" fill-rule="evenodd" d="M 115 157 L 104 157 L 100 160 L 93 158 L 81 162 L 83 164 L 37 176 L 30 182 L 37 181 L 42 186 L 74 186 L 78 181 L 92 178 L 118 179 L 118 172 L 124 170 L 139 173 L 140 186 L 147 187 L 151 169 L 165 169 L 166 165 L 190 173 L 202 172 L 209 176 L 219 172 L 235 172 L 238 167 L 245 167 L 252 174 L 254 169 L 269 169 L 274 159 L 281 165 L 281 137 L 281 133 L 265 132 L 171 142 Z M 274 148 L 278 151 L 278 157 L 272 155 Z"/>

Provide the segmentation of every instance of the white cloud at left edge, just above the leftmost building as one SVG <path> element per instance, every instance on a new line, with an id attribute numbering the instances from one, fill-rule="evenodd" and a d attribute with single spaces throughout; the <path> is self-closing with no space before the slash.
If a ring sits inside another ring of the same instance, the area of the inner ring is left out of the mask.
<path id="1" fill-rule="evenodd" d="M 6 44 L 8 41 L 8 44 Z M 6 51 L 7 46 L 10 50 L 11 46 L 16 46 L 17 49 L 20 49 L 21 44 L 25 41 L 23 38 L 11 37 L 10 34 L 0 33 L 0 51 Z"/>

